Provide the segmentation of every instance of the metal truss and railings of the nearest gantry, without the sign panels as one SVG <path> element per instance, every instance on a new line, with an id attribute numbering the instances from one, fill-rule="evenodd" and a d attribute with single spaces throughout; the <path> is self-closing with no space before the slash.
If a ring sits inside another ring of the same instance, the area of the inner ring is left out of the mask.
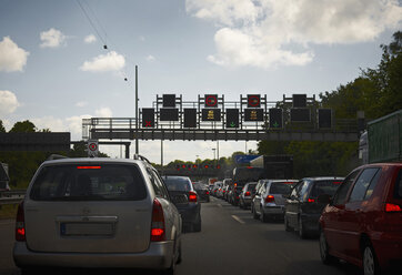
<path id="1" fill-rule="evenodd" d="M 203 109 L 207 109 L 207 95 L 198 96 L 198 101 L 183 101 L 182 95 L 174 95 L 174 106 L 178 116 L 174 120 L 161 120 L 163 96 L 157 95 L 153 102 L 154 123 L 151 128 L 142 126 L 142 110 L 139 115 L 139 128 L 135 128 L 135 118 L 92 118 L 82 120 L 83 140 L 182 140 L 182 141 L 356 141 L 359 140 L 358 120 L 332 121 L 328 129 L 318 128 L 316 112 L 319 103 L 314 98 L 306 98 L 310 110 L 310 121 L 302 123 L 290 122 L 290 108 L 292 98 L 280 102 L 267 101 L 267 95 L 259 95 L 258 108 L 248 106 L 248 96 L 240 95 L 240 101 L 225 101 L 224 95 L 217 96 L 213 110 L 219 111 L 219 121 L 204 121 Z M 283 109 L 283 128 L 275 129 L 269 125 L 269 109 Z M 169 109 L 169 108 L 168 108 Z M 194 128 L 184 128 L 184 109 L 197 110 L 197 124 Z M 229 128 L 225 120 L 228 109 L 239 110 L 239 126 Z M 262 109 L 262 121 L 247 121 L 245 110 Z M 332 115 L 333 120 L 333 115 Z"/>

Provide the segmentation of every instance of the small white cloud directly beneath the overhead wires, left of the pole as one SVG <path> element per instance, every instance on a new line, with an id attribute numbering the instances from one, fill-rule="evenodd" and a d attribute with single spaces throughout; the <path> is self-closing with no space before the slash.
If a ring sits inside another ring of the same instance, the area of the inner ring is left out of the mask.
<path id="1" fill-rule="evenodd" d="M 115 51 L 108 52 L 107 54 L 100 54 L 92 59 L 92 61 L 86 61 L 80 70 L 89 72 L 107 72 L 119 71 L 125 65 L 124 57 Z"/>

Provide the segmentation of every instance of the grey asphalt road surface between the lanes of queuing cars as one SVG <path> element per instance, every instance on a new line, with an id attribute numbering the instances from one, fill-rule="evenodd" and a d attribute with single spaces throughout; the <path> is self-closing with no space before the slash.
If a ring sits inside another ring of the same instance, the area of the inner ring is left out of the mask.
<path id="1" fill-rule="evenodd" d="M 19 275 L 12 262 L 13 221 L 0 221 L 0 274 Z M 318 240 L 300 240 L 283 223 L 261 223 L 250 211 L 212 198 L 202 204 L 202 231 L 183 235 L 183 261 L 177 275 L 355 275 L 346 263 L 325 266 Z M 153 274 L 144 271 L 57 271 L 58 274 Z M 54 274 L 52 271 L 50 274 Z"/>

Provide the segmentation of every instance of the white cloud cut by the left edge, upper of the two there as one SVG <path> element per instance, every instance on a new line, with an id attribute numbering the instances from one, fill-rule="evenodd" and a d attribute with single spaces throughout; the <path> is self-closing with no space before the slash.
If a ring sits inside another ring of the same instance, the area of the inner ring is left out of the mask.
<path id="1" fill-rule="evenodd" d="M 22 71 L 28 55 L 29 52 L 19 48 L 10 37 L 3 37 L 0 42 L 0 71 Z"/>

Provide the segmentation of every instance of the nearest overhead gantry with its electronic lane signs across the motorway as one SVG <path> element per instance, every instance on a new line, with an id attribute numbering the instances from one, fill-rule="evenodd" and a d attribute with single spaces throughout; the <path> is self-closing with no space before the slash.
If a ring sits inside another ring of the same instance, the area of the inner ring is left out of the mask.
<path id="1" fill-rule="evenodd" d="M 333 112 L 321 109 L 315 96 L 283 95 L 269 102 L 265 94 L 224 95 L 207 93 L 197 101 L 162 94 L 135 119 L 93 118 L 83 120 L 83 139 L 140 140 L 310 140 L 355 141 L 356 121 L 334 123 Z"/>

